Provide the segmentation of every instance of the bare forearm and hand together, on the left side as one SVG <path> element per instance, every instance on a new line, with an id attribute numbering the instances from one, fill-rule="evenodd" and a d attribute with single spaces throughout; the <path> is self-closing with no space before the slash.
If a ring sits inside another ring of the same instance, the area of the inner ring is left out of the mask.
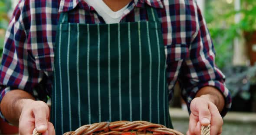
<path id="1" fill-rule="evenodd" d="M 24 90 L 11 90 L 3 96 L 0 109 L 8 122 L 19 126 L 19 135 L 32 135 L 36 127 L 43 135 L 55 135 L 53 124 L 48 122 L 49 107 Z"/>

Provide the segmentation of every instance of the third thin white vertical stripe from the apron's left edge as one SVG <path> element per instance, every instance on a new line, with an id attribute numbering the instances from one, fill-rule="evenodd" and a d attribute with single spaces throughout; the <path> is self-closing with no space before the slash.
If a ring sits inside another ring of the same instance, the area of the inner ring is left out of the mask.
<path id="1" fill-rule="evenodd" d="M 76 50 L 76 75 L 77 75 L 77 94 L 78 94 L 78 119 L 79 127 L 81 126 L 81 100 L 80 100 L 80 80 L 79 80 L 79 23 L 77 23 L 77 50 Z"/>

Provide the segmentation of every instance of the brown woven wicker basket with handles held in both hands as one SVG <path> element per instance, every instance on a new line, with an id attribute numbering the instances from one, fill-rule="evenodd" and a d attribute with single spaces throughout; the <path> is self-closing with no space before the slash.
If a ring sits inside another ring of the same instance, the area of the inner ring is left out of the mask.
<path id="1" fill-rule="evenodd" d="M 33 135 L 40 135 L 36 129 Z M 183 135 L 174 129 L 168 129 L 164 125 L 153 124 L 146 121 L 117 121 L 99 122 L 83 125 L 75 131 L 66 132 L 63 135 Z M 210 125 L 202 127 L 202 135 L 210 135 Z"/>

